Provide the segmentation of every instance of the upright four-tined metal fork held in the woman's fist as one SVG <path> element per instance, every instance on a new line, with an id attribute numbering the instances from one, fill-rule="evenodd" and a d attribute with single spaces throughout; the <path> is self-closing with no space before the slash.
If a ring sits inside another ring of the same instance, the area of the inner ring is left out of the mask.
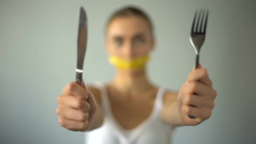
<path id="1" fill-rule="evenodd" d="M 201 16 L 202 11 L 203 11 L 203 14 Z M 206 16 L 204 16 L 205 13 L 206 13 Z M 208 13 L 209 13 L 208 10 L 200 10 L 199 14 L 197 16 L 197 10 L 196 10 L 195 15 L 194 15 L 194 20 L 193 20 L 193 23 L 191 26 L 190 42 L 191 42 L 192 46 L 194 47 L 195 53 L 196 53 L 195 69 L 197 69 L 198 65 L 199 65 L 200 49 L 201 49 L 201 46 L 203 45 L 203 42 L 205 39 Z M 196 23 L 196 19 L 197 19 L 197 23 Z M 203 26 L 203 21 L 204 21 L 204 26 Z M 199 23 L 200 23 L 200 27 L 198 27 Z M 196 25 L 196 27 L 195 27 L 195 25 Z M 191 119 L 196 118 L 192 115 L 188 115 L 188 117 Z"/>

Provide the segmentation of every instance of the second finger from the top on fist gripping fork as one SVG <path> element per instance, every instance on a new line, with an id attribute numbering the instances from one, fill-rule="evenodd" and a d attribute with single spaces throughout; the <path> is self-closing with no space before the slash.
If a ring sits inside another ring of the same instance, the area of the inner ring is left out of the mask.
<path id="1" fill-rule="evenodd" d="M 194 94 L 196 93 L 197 95 L 200 96 L 207 96 L 210 99 L 215 99 L 216 98 L 216 91 L 213 88 L 210 88 L 209 86 L 201 83 L 201 82 L 188 82 L 187 88 L 185 90 L 186 94 Z"/>

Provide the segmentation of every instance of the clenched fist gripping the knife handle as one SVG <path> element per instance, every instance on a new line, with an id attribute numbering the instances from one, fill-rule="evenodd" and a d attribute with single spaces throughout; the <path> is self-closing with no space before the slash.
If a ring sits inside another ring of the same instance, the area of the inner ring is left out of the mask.
<path id="1" fill-rule="evenodd" d="M 56 113 L 59 124 L 70 131 L 86 131 L 96 111 L 96 102 L 91 92 L 75 82 L 66 85 L 57 98 Z"/>

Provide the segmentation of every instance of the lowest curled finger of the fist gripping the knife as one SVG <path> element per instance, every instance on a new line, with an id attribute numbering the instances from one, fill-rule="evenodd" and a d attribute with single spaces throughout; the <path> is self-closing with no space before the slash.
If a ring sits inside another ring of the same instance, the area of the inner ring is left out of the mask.
<path id="1" fill-rule="evenodd" d="M 59 124 L 71 131 L 85 131 L 88 127 L 88 121 L 74 121 L 63 117 L 59 117 Z"/>

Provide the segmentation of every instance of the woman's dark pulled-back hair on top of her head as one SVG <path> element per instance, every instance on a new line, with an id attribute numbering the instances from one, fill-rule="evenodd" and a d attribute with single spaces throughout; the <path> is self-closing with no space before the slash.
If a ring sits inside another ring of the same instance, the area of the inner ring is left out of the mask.
<path id="1" fill-rule="evenodd" d="M 146 20 L 148 22 L 148 25 L 150 27 L 151 33 L 153 33 L 153 24 L 149 18 L 149 16 L 140 8 L 135 6 L 127 6 L 122 7 L 118 10 L 116 10 L 112 15 L 108 18 L 108 22 L 106 24 L 106 29 L 108 28 L 109 24 L 115 20 L 116 18 L 124 18 L 128 16 L 139 16 Z"/>

